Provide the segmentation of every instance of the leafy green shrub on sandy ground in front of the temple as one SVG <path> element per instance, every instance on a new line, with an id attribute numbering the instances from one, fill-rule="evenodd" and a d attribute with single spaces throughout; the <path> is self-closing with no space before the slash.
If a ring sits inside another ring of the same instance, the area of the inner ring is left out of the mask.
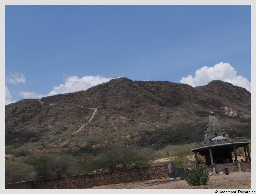
<path id="1" fill-rule="evenodd" d="M 207 184 L 209 180 L 208 169 L 204 168 L 202 164 L 198 168 L 192 167 L 192 171 L 185 172 L 185 179 L 191 186 Z"/>

